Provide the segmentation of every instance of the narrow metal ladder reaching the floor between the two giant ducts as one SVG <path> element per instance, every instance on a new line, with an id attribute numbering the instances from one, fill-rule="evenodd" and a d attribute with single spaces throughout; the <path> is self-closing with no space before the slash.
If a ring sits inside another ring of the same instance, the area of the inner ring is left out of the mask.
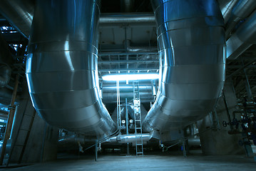
<path id="1" fill-rule="evenodd" d="M 136 156 L 143 156 L 143 136 L 140 113 L 140 93 L 138 81 L 133 82 L 133 105 L 134 105 L 134 126 L 135 126 L 135 147 Z"/>

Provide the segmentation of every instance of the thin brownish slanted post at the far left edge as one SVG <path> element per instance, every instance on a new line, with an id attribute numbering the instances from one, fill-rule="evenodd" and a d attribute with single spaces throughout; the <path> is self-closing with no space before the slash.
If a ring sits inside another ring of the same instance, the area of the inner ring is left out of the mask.
<path id="1" fill-rule="evenodd" d="M 16 99 L 16 93 L 17 93 L 18 86 L 19 86 L 19 75 L 16 76 L 14 92 L 12 93 L 12 96 L 11 96 L 11 104 L 9 107 L 10 110 L 9 110 L 8 122 L 6 125 L 6 131 L 4 133 L 4 142 L 1 147 L 0 165 L 3 165 L 7 140 L 9 140 L 9 138 L 10 138 L 12 124 L 14 123 L 14 113 L 15 113 L 15 108 L 16 108 L 14 103 L 15 103 L 15 99 Z"/>

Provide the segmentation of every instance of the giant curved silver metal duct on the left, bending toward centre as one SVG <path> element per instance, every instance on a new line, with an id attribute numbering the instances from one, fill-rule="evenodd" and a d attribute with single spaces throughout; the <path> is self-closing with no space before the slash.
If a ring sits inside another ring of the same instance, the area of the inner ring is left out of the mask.
<path id="1" fill-rule="evenodd" d="M 26 63 L 39 115 L 93 137 L 116 130 L 98 92 L 99 15 L 96 0 L 37 0 Z"/>

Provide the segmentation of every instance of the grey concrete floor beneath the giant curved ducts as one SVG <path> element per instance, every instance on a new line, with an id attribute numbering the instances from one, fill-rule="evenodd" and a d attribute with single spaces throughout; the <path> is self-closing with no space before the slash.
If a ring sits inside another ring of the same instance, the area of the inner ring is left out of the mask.
<path id="1" fill-rule="evenodd" d="M 145 155 L 144 157 L 100 155 L 95 162 L 93 156 L 83 156 L 80 160 L 61 159 L 55 162 L 29 165 L 25 167 L 1 169 L 1 170 L 256 170 L 256 162 L 253 158 L 243 155 L 229 156 L 203 156 L 190 155 Z"/>

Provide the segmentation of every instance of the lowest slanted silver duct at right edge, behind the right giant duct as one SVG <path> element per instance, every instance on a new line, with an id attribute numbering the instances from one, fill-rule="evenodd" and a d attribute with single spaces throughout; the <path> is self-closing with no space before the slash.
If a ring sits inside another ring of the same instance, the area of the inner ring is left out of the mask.
<path id="1" fill-rule="evenodd" d="M 227 58 L 236 59 L 256 43 L 256 11 L 227 40 Z"/>

